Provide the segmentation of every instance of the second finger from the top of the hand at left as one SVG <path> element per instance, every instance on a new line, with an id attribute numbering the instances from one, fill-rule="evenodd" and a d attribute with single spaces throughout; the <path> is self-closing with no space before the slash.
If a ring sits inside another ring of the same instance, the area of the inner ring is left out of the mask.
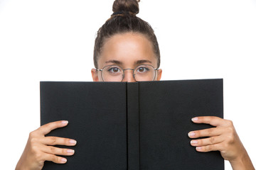
<path id="1" fill-rule="evenodd" d="M 44 145 L 65 145 L 74 146 L 76 145 L 76 140 L 64 138 L 64 137 L 43 137 L 41 143 Z"/>

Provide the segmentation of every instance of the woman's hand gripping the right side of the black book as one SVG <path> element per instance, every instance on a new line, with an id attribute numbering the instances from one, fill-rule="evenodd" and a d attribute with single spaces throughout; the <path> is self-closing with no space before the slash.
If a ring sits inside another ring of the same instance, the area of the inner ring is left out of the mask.
<path id="1" fill-rule="evenodd" d="M 196 130 L 188 133 L 193 138 L 191 145 L 196 147 L 198 152 L 220 151 L 221 156 L 230 161 L 233 169 L 249 167 L 252 169 L 252 163 L 245 147 L 243 147 L 233 122 L 215 116 L 201 116 L 192 118 L 193 123 L 206 123 L 215 126 L 205 130 Z M 207 137 L 196 139 L 198 137 Z M 244 165 L 242 165 L 244 164 Z"/>

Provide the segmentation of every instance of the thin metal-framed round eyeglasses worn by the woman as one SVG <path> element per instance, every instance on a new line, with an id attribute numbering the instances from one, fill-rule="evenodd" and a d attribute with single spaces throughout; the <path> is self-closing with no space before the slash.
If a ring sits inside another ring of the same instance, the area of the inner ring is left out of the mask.
<path id="1" fill-rule="evenodd" d="M 108 65 L 96 70 L 101 72 L 103 81 L 122 81 L 124 79 L 124 71 L 127 69 L 122 69 L 117 65 Z M 132 70 L 132 76 L 135 81 L 153 81 L 156 77 L 156 71 L 159 69 L 155 69 L 149 64 L 142 64 L 130 70 Z"/>

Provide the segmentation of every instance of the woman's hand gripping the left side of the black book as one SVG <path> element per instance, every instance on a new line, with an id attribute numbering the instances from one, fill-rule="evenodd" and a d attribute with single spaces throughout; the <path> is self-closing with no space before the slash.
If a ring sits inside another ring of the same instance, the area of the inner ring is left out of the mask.
<path id="1" fill-rule="evenodd" d="M 31 132 L 23 154 L 16 165 L 16 170 L 42 169 L 45 161 L 65 164 L 67 159 L 56 155 L 73 155 L 75 151 L 73 149 L 53 147 L 53 145 L 74 146 L 76 141 L 63 137 L 46 137 L 45 135 L 51 130 L 63 128 L 66 125 L 68 125 L 68 121 L 60 120 L 42 125 Z"/>

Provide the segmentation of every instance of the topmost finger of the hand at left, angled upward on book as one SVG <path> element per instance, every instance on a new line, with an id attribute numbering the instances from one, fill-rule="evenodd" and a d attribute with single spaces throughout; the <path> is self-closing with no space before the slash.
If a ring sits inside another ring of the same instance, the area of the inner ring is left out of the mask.
<path id="1" fill-rule="evenodd" d="M 40 131 L 43 135 L 46 135 L 50 131 L 55 130 L 56 128 L 62 128 L 66 125 L 68 125 L 67 120 L 60 120 L 52 123 L 47 123 L 46 125 L 42 125 L 40 128 L 38 128 L 38 131 Z"/>

